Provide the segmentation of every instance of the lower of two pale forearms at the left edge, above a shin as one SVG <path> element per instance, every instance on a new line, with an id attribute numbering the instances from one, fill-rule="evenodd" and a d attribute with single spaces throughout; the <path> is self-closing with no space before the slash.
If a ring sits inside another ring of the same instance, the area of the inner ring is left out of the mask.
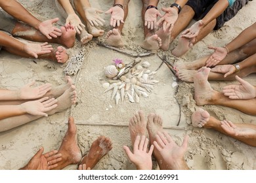
<path id="1" fill-rule="evenodd" d="M 27 113 L 21 105 L 0 105 L 0 111 L 0 120 Z"/>

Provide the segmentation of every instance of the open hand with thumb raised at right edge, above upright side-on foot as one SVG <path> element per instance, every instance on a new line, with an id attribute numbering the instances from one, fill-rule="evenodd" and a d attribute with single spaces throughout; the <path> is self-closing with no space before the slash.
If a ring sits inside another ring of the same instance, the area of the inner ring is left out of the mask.
<path id="1" fill-rule="evenodd" d="M 238 80 L 240 84 L 232 84 L 223 88 L 225 96 L 228 96 L 230 99 L 253 99 L 256 97 L 254 86 L 239 76 L 236 76 L 236 80 Z"/>

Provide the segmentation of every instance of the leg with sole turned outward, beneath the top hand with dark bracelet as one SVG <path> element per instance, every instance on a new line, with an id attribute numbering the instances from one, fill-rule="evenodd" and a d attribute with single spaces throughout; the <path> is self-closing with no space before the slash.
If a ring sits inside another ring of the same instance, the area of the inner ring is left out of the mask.
<path id="1" fill-rule="evenodd" d="M 123 10 L 125 12 L 125 16 L 123 18 L 123 21 L 127 18 L 128 14 L 128 4 L 130 0 L 125 0 L 124 5 L 123 5 Z M 106 43 L 109 44 L 110 46 L 115 46 L 117 48 L 123 47 L 123 41 L 121 38 L 121 31 L 123 30 L 123 23 L 119 25 L 119 27 L 115 27 L 114 29 L 108 31 L 106 35 Z"/>

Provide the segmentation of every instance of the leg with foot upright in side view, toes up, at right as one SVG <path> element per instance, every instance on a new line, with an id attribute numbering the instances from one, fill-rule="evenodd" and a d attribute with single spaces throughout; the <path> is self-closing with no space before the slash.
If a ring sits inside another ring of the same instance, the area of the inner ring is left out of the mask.
<path id="1" fill-rule="evenodd" d="M 207 81 L 210 69 L 202 67 L 194 75 L 194 99 L 196 105 L 222 105 L 235 108 L 246 114 L 256 115 L 256 98 L 249 100 L 229 99 L 223 93 L 217 92 L 211 88 Z M 249 107 L 248 107 L 249 106 Z"/>

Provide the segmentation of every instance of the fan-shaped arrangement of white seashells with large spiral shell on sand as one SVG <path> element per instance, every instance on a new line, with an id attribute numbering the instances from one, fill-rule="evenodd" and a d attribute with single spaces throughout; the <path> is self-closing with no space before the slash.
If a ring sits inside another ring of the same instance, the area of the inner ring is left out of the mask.
<path id="1" fill-rule="evenodd" d="M 111 80 L 118 74 L 118 69 L 122 69 L 122 67 L 125 67 L 125 64 L 116 63 L 116 65 L 108 65 L 104 69 L 106 77 L 110 78 L 108 82 L 102 84 L 105 88 L 104 93 L 112 91 L 111 100 L 115 99 L 116 105 L 120 99 L 124 101 L 125 98 L 131 103 L 139 103 L 140 97 L 148 97 L 148 93 L 151 93 L 154 86 L 159 82 L 154 80 L 156 71 L 148 69 L 150 67 L 148 61 L 133 67 L 129 73 L 121 76 L 118 80 Z"/>

